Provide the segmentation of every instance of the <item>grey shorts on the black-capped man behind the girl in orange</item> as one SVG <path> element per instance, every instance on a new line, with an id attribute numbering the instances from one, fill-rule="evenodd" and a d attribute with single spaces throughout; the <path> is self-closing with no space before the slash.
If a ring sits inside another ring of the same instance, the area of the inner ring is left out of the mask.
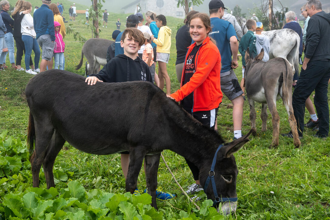
<path id="1" fill-rule="evenodd" d="M 243 94 L 240 83 L 232 69 L 220 74 L 220 86 L 222 93 L 225 94 L 229 100 L 233 100 Z"/>

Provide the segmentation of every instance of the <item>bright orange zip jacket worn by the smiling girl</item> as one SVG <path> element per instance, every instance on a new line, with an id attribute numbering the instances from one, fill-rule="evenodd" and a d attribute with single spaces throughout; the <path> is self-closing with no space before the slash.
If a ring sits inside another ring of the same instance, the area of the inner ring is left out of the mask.
<path id="1" fill-rule="evenodd" d="M 190 54 L 196 43 L 188 47 L 185 57 Z M 170 96 L 179 102 L 193 92 L 192 111 L 208 111 L 219 107 L 222 100 L 220 89 L 221 56 L 219 49 L 206 37 L 195 56 L 196 71 L 190 80 L 182 86 L 185 66 L 182 71 L 181 88 Z"/>

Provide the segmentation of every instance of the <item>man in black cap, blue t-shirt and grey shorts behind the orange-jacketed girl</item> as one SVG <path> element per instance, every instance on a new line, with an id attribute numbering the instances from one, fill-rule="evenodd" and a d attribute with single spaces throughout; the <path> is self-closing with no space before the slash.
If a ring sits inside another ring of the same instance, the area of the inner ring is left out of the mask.
<path id="1" fill-rule="evenodd" d="M 211 0 L 209 12 L 212 32 L 210 37 L 215 39 L 221 55 L 220 83 L 221 91 L 233 104 L 233 126 L 234 140 L 242 137 L 243 120 L 243 91 L 238 79 L 233 71 L 238 67 L 237 53 L 238 41 L 233 25 L 226 20 L 222 20 L 224 14 L 224 4 L 220 0 Z M 233 58 L 232 58 L 233 56 Z"/>

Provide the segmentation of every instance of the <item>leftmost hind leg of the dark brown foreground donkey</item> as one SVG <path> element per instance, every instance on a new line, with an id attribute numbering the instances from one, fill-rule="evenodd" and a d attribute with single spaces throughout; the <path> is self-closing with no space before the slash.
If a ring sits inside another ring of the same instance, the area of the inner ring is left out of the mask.
<path id="1" fill-rule="evenodd" d="M 40 125 L 38 121 L 35 120 L 36 142 L 33 154 L 30 158 L 33 187 L 39 187 L 41 164 L 44 160 L 48 143 L 54 133 L 54 129 L 51 125 Z"/>

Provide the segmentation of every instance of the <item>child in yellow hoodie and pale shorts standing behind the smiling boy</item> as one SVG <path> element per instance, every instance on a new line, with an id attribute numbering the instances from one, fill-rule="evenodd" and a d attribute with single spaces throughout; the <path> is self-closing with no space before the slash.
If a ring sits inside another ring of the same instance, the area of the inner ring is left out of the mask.
<path id="1" fill-rule="evenodd" d="M 166 64 L 170 59 L 171 33 L 172 30 L 166 26 L 166 17 L 158 15 L 156 25 L 159 27 L 158 38 L 151 37 L 151 41 L 157 45 L 156 61 L 158 61 L 159 88 L 164 89 L 166 83 L 166 94 L 171 94 L 171 80 L 168 76 Z"/>

